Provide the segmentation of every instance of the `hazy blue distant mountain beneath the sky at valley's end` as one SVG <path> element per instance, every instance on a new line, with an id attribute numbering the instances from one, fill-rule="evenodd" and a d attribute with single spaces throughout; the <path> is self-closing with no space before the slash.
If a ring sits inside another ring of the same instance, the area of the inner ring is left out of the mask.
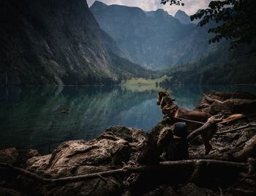
<path id="1" fill-rule="evenodd" d="M 138 7 L 108 6 L 100 1 L 95 1 L 90 10 L 100 28 L 116 40 L 125 58 L 147 69 L 197 61 L 218 48 L 208 45 L 207 27 L 180 23 L 164 10 L 144 12 Z"/>

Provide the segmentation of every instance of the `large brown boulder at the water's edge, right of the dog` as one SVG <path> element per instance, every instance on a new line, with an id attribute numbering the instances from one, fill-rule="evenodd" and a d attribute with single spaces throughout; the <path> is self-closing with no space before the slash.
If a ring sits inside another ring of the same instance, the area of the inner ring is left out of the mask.
<path id="1" fill-rule="evenodd" d="M 211 115 L 217 113 L 254 113 L 256 110 L 256 96 L 245 91 L 233 93 L 210 91 L 200 99 L 196 109 Z"/>

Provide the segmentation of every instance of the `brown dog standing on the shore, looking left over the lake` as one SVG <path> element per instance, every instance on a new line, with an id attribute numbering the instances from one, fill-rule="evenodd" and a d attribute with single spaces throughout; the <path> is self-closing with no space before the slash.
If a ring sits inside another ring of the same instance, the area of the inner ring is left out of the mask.
<path id="1" fill-rule="evenodd" d="M 161 106 L 162 113 L 165 117 L 176 117 L 176 118 L 184 118 L 187 123 L 187 129 L 189 132 L 192 132 L 195 129 L 200 128 L 203 124 L 192 122 L 192 121 L 199 121 L 202 123 L 205 123 L 208 118 L 211 117 L 210 114 L 204 113 L 197 110 L 187 110 L 185 108 L 181 108 L 178 105 L 175 104 L 175 99 L 172 99 L 170 97 L 170 93 L 167 91 L 159 91 L 158 93 L 158 102 L 157 105 Z M 203 132 L 201 134 L 203 138 L 203 143 L 206 147 L 206 154 L 208 154 L 209 151 L 211 151 L 211 145 L 209 143 L 209 140 L 211 140 L 212 134 L 211 130 L 208 130 L 208 132 Z"/>

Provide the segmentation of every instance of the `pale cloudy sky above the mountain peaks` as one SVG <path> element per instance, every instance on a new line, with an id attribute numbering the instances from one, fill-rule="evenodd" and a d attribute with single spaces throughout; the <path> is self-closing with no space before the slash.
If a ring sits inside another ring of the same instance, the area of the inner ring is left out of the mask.
<path id="1" fill-rule="evenodd" d="M 95 0 L 87 0 L 87 3 L 89 4 L 89 7 L 91 4 L 94 3 Z M 120 5 L 126 5 L 129 7 L 140 7 L 142 10 L 145 11 L 152 11 L 157 9 L 163 9 L 167 12 L 169 12 L 170 15 L 175 15 L 177 10 L 183 10 L 187 13 L 187 15 L 192 15 L 197 12 L 197 10 L 201 8 L 208 7 L 208 4 L 211 0 L 183 0 L 184 6 L 176 6 L 170 4 L 160 4 L 161 0 L 98 0 L 102 1 L 105 4 L 120 4 Z"/>

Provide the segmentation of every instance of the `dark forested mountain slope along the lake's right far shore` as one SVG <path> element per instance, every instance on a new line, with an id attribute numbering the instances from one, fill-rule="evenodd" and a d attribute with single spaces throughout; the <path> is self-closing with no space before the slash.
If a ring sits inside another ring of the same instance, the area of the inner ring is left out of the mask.
<path id="1" fill-rule="evenodd" d="M 160 83 L 166 87 L 170 84 L 252 84 L 256 83 L 256 56 L 252 55 L 255 45 L 240 45 L 228 52 L 220 48 L 215 53 L 195 63 L 165 70 L 170 77 Z"/>

